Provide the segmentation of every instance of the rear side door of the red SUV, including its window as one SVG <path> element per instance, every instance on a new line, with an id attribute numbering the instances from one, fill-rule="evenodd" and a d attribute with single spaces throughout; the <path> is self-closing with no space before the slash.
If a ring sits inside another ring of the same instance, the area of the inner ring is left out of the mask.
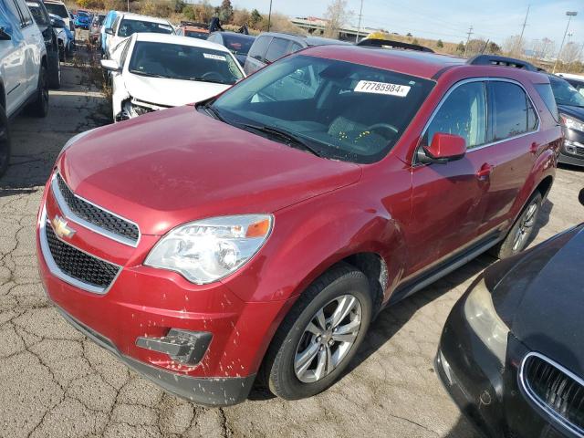
<path id="1" fill-rule="evenodd" d="M 489 153 L 485 164 L 484 216 L 479 234 L 506 225 L 513 204 L 533 169 L 538 150 L 539 120 L 526 90 L 508 79 L 487 82 Z"/>

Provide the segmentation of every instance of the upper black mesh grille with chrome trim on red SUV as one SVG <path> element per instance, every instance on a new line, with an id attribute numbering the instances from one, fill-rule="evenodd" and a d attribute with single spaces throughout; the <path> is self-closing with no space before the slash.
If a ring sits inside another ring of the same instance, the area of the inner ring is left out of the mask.
<path id="1" fill-rule="evenodd" d="M 130 244 L 138 243 L 140 231 L 136 224 L 132 224 L 115 214 L 111 214 L 110 212 L 99 208 L 97 205 L 79 198 L 71 192 L 67 183 L 63 181 L 63 178 L 61 178 L 61 175 L 58 173 L 56 179 L 57 190 L 63 201 L 67 203 L 68 209 L 72 214 L 77 215 L 82 220 L 87 221 L 89 224 L 93 224 L 112 235 L 120 236 L 124 240 L 129 241 Z"/>

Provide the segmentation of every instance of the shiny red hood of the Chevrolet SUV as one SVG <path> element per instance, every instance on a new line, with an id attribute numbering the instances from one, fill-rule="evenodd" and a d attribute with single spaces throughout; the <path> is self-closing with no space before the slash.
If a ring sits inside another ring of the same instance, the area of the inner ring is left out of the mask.
<path id="1" fill-rule="evenodd" d="M 162 235 L 226 214 L 272 213 L 360 179 L 326 160 L 199 113 L 162 110 L 89 132 L 57 168 L 91 203 Z"/>

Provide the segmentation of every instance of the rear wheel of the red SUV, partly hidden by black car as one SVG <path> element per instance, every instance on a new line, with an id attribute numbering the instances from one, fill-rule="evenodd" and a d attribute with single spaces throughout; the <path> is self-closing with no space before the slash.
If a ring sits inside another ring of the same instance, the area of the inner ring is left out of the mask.
<path id="1" fill-rule="evenodd" d="M 498 258 L 507 258 L 519 254 L 526 248 L 533 237 L 541 203 L 541 193 L 533 193 L 505 239 L 491 250 L 492 255 Z"/>

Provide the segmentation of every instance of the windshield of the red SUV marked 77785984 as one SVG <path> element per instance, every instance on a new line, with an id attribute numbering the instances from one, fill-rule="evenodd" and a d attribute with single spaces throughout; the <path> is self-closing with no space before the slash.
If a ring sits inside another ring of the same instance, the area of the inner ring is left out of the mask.
<path id="1" fill-rule="evenodd" d="M 285 57 L 213 104 L 226 122 L 284 130 L 318 155 L 377 162 L 390 151 L 433 82 L 319 57 Z"/>

